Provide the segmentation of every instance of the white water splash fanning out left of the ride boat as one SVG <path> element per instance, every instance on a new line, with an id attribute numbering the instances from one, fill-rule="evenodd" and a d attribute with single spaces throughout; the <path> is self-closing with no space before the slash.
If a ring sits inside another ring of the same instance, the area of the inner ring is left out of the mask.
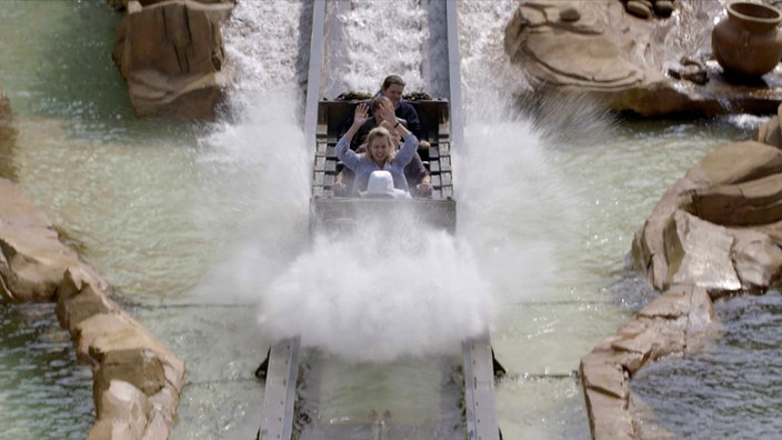
<path id="1" fill-rule="evenodd" d="M 197 218 L 203 228 L 224 231 L 227 240 L 202 290 L 221 291 L 221 300 L 258 301 L 307 237 L 312 159 L 295 100 L 284 92 L 263 96 L 274 104 L 222 126 L 203 140 L 198 159 L 208 184 Z"/>

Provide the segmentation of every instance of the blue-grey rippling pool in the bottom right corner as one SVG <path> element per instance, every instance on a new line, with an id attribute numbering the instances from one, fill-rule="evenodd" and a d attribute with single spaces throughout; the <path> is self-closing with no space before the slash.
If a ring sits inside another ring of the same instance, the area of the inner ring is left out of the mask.
<path id="1" fill-rule="evenodd" d="M 774 439 L 782 432 L 782 294 L 718 301 L 724 336 L 645 367 L 633 391 L 678 439 Z M 664 392 L 660 392 L 664 390 Z"/>

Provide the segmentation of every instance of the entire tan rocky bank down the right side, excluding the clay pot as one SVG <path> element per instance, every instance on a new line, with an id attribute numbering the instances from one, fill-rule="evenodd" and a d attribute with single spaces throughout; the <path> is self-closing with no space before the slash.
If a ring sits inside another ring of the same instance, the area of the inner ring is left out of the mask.
<path id="1" fill-rule="evenodd" d="M 714 329 L 713 299 L 781 283 L 782 73 L 778 66 L 754 78 L 725 74 L 711 42 L 723 3 L 528 0 L 505 27 L 505 52 L 529 84 L 522 107 L 555 97 L 642 117 L 776 116 L 756 140 L 708 154 L 635 234 L 634 264 L 661 294 L 581 360 L 595 439 L 671 438 L 639 417 L 633 373 L 695 350 Z"/>

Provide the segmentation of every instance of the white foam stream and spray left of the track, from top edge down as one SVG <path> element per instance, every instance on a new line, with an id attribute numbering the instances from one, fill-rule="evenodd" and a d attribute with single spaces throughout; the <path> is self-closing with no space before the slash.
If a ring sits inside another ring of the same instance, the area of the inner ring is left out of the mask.
<path id="1" fill-rule="evenodd" d="M 303 92 L 291 80 L 302 70 L 291 56 L 301 43 L 294 6 L 239 2 L 223 27 L 225 73 L 234 79 L 229 114 L 197 159 L 198 217 L 225 241 L 197 289 L 204 301 L 257 302 L 305 241 L 312 158 L 300 123 Z"/>

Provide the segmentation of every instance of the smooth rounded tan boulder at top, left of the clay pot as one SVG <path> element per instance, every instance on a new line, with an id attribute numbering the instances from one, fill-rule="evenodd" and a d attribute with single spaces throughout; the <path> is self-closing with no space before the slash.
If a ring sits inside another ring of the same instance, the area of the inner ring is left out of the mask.
<path id="1" fill-rule="evenodd" d="M 562 20 L 561 11 L 578 9 L 578 21 Z M 626 24 L 616 0 L 529 1 L 522 3 L 505 28 L 505 51 L 521 62 L 531 82 L 560 87 L 621 90 L 639 84 L 646 74 L 644 48 L 650 44 L 649 22 Z M 629 32 L 623 38 L 612 29 Z"/>

